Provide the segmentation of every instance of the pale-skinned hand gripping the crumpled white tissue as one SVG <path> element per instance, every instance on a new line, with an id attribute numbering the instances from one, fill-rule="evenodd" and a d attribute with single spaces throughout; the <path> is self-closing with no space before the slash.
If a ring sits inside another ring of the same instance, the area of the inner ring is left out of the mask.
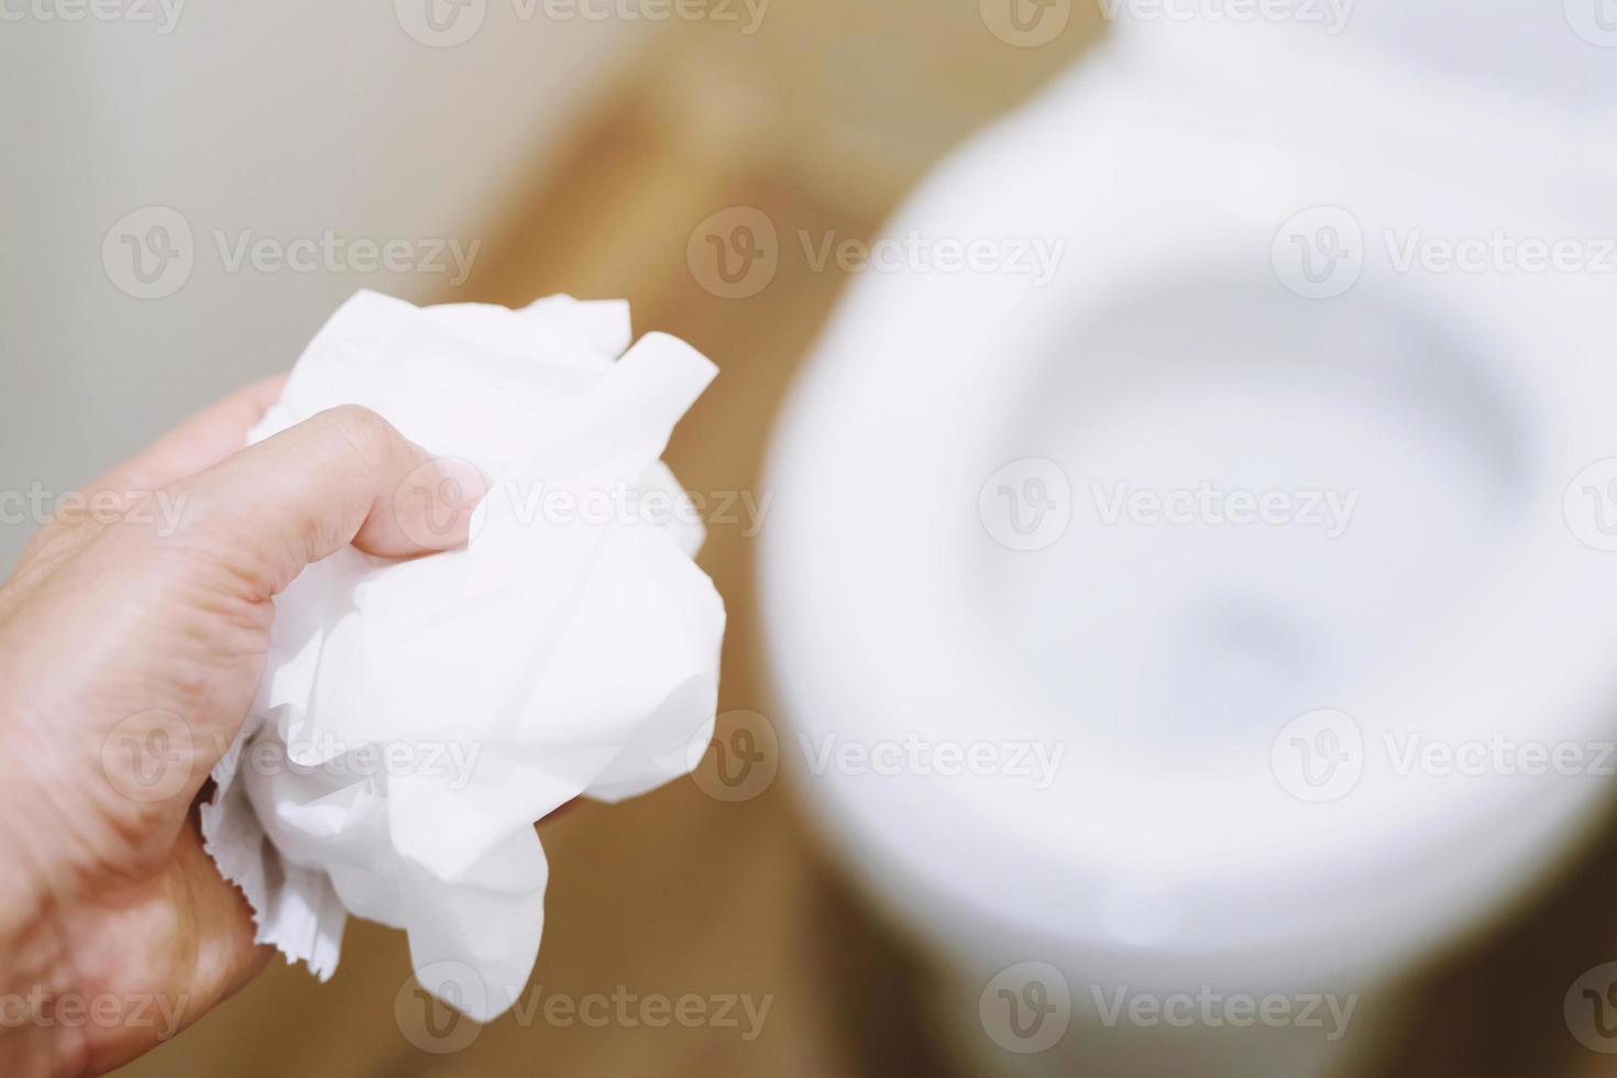
<path id="1" fill-rule="evenodd" d="M 264 966 L 194 802 L 264 676 L 272 600 L 349 543 L 466 541 L 466 501 L 396 498 L 464 477 L 372 412 L 244 449 L 280 390 L 249 386 L 103 475 L 86 495 L 128 512 L 52 522 L 0 587 L 0 1073 L 110 1070 Z M 183 506 L 176 527 L 137 511 L 152 491 Z M 186 735 L 157 743 L 183 781 L 131 797 L 108 742 L 176 716 Z"/>

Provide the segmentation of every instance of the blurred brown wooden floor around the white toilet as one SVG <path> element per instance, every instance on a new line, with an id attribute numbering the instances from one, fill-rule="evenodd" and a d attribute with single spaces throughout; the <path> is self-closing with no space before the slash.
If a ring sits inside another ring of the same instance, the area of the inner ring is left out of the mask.
<path id="1" fill-rule="evenodd" d="M 1030 50 L 991 40 L 960 45 L 951 55 L 964 66 L 948 69 L 917 61 L 896 73 L 865 71 L 851 50 L 846 66 L 826 73 L 815 48 L 836 55 L 826 44 L 826 23 L 836 19 L 792 11 L 762 44 L 692 31 L 660 45 L 621 97 L 585 110 L 576 145 L 516 199 L 508 234 L 469 288 L 475 299 L 505 304 L 556 291 L 627 296 L 637 333 L 666 330 L 711 356 L 721 375 L 668 454 L 699 491 L 760 488 L 775 411 L 846 280 L 834 267 L 813 272 L 783 257 L 762 293 L 721 299 L 686 265 L 697 223 L 747 205 L 783 234 L 868 236 L 933 157 L 1028 92 L 1095 31 L 1074 32 L 1066 53 L 1020 55 Z M 862 8 L 826 0 L 825 11 L 865 19 L 865 34 L 881 32 Z M 980 29 L 967 23 L 962 40 Z M 902 26 L 894 32 L 902 36 Z M 927 55 L 925 42 L 909 47 Z M 854 86 L 831 86 L 836 71 Z M 930 112 L 906 121 L 906 108 Z M 805 113 L 834 121 L 817 124 Z M 739 525 L 715 525 L 702 564 L 731 613 L 721 710 L 765 711 L 754 540 Z M 826 868 L 789 777 L 742 803 L 681 781 L 626 805 L 579 805 L 540 834 L 551 886 L 530 992 L 770 997 L 762 1034 L 589 1028 L 542 1013 L 524 1025 L 508 1015 L 464 1051 L 422 1052 L 395 1017 L 395 1000 L 407 991 L 403 937 L 356 923 L 330 984 L 277 965 L 126 1073 L 949 1073 L 928 1047 L 936 1038 L 914 1002 L 925 975 Z M 1606 847 L 1617 850 L 1617 840 Z M 1617 1075 L 1617 1063 L 1572 1041 L 1560 1012 L 1572 978 L 1609 958 L 1617 958 L 1617 857 L 1560 881 L 1515 928 L 1434 970 L 1405 1015 L 1405 1039 L 1374 1073 Z"/>

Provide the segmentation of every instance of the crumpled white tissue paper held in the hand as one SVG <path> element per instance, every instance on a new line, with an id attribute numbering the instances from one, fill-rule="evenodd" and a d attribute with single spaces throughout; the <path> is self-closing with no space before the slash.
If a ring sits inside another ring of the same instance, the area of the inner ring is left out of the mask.
<path id="1" fill-rule="evenodd" d="M 259 941 L 320 979 L 353 913 L 409 933 L 424 987 L 496 1017 L 538 954 L 534 821 L 686 774 L 711 737 L 724 606 L 692 561 L 700 524 L 623 506 L 679 504 L 660 456 L 716 372 L 666 335 L 627 344 L 626 302 L 359 293 L 249 438 L 362 404 L 488 480 L 466 548 L 349 546 L 275 600 L 213 773 L 209 853 Z M 467 968 L 483 991 L 459 991 Z"/>

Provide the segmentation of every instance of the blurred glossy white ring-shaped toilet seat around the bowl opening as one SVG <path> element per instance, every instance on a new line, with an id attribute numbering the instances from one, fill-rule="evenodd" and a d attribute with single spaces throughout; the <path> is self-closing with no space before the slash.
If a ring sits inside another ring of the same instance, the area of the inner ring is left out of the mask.
<path id="1" fill-rule="evenodd" d="M 1271 242 L 1290 212 L 1349 208 L 1366 238 L 1415 223 L 1465 234 L 1501 220 L 1523 234 L 1590 234 L 1602 221 L 1557 217 L 1547 187 L 1525 199 L 1554 178 L 1505 168 L 1494 144 L 1365 166 L 1387 145 L 1429 149 L 1449 123 L 1441 100 L 1399 129 L 1358 131 L 1357 144 L 1342 139 L 1355 124 L 1321 124 L 1336 149 L 1321 154 L 1295 137 L 1307 124 L 1243 110 L 1192 73 L 1193 94 L 1171 94 L 1159 78 L 1142 94 L 1109 63 L 1125 61 L 1091 61 L 969 147 L 891 229 L 1064 236 L 1058 278 L 1045 289 L 969 270 L 862 280 L 784 415 L 763 533 L 778 697 L 805 743 L 1058 731 L 1069 743 L 1061 779 L 1036 794 L 936 774 L 831 771 L 800 785 L 878 889 L 967 941 L 1062 941 L 1087 968 L 1116 962 L 1134 976 L 1227 970 L 1232 954 L 1253 978 L 1384 965 L 1518 897 L 1573 847 L 1609 781 L 1391 774 L 1366 761 L 1350 795 L 1307 803 L 1273 782 L 1268 756 L 1205 769 L 1171 758 L 1153 774 L 1095 737 L 1062 735 L 1066 716 L 1017 690 L 1027 667 L 982 600 L 991 566 L 1048 551 L 994 545 L 977 519 L 980 488 L 1011 459 L 1048 456 L 1017 444 L 1015 419 L 1048 393 L 1051 357 L 1075 352 L 1083 326 L 1132 297 L 1218 278 L 1273 289 L 1276 310 L 1339 302 L 1292 296 L 1276 280 Z M 1061 145 L 1041 134 L 1056 115 Z M 1255 115 L 1269 121 L 1231 120 Z M 1499 145 L 1560 137 L 1544 128 Z M 1523 204 L 1544 208 L 1528 220 Z M 1611 740 L 1617 553 L 1580 541 L 1565 516 L 1573 477 L 1617 457 L 1617 364 L 1601 325 L 1609 284 L 1400 275 L 1370 247 L 1365 262 L 1340 302 L 1441 330 L 1467 357 L 1467 385 L 1499 406 L 1494 433 L 1520 474 L 1488 575 L 1421 642 L 1418 661 L 1365 688 L 1353 719 L 1370 745 L 1410 732 Z M 1164 305 L 1161 317 L 1174 314 Z M 1263 743 L 1277 732 L 1266 729 Z"/>

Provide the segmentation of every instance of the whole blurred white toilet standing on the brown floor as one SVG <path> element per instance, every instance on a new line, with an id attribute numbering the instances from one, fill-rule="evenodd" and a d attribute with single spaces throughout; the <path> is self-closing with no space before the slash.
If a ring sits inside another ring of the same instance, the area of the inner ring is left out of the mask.
<path id="1" fill-rule="evenodd" d="M 1054 278 L 867 273 L 781 423 L 783 755 L 985 1070 L 1342 1065 L 1611 803 L 1617 275 L 1429 252 L 1598 259 L 1617 166 L 1376 26 L 1109 45 L 889 228 Z"/>

